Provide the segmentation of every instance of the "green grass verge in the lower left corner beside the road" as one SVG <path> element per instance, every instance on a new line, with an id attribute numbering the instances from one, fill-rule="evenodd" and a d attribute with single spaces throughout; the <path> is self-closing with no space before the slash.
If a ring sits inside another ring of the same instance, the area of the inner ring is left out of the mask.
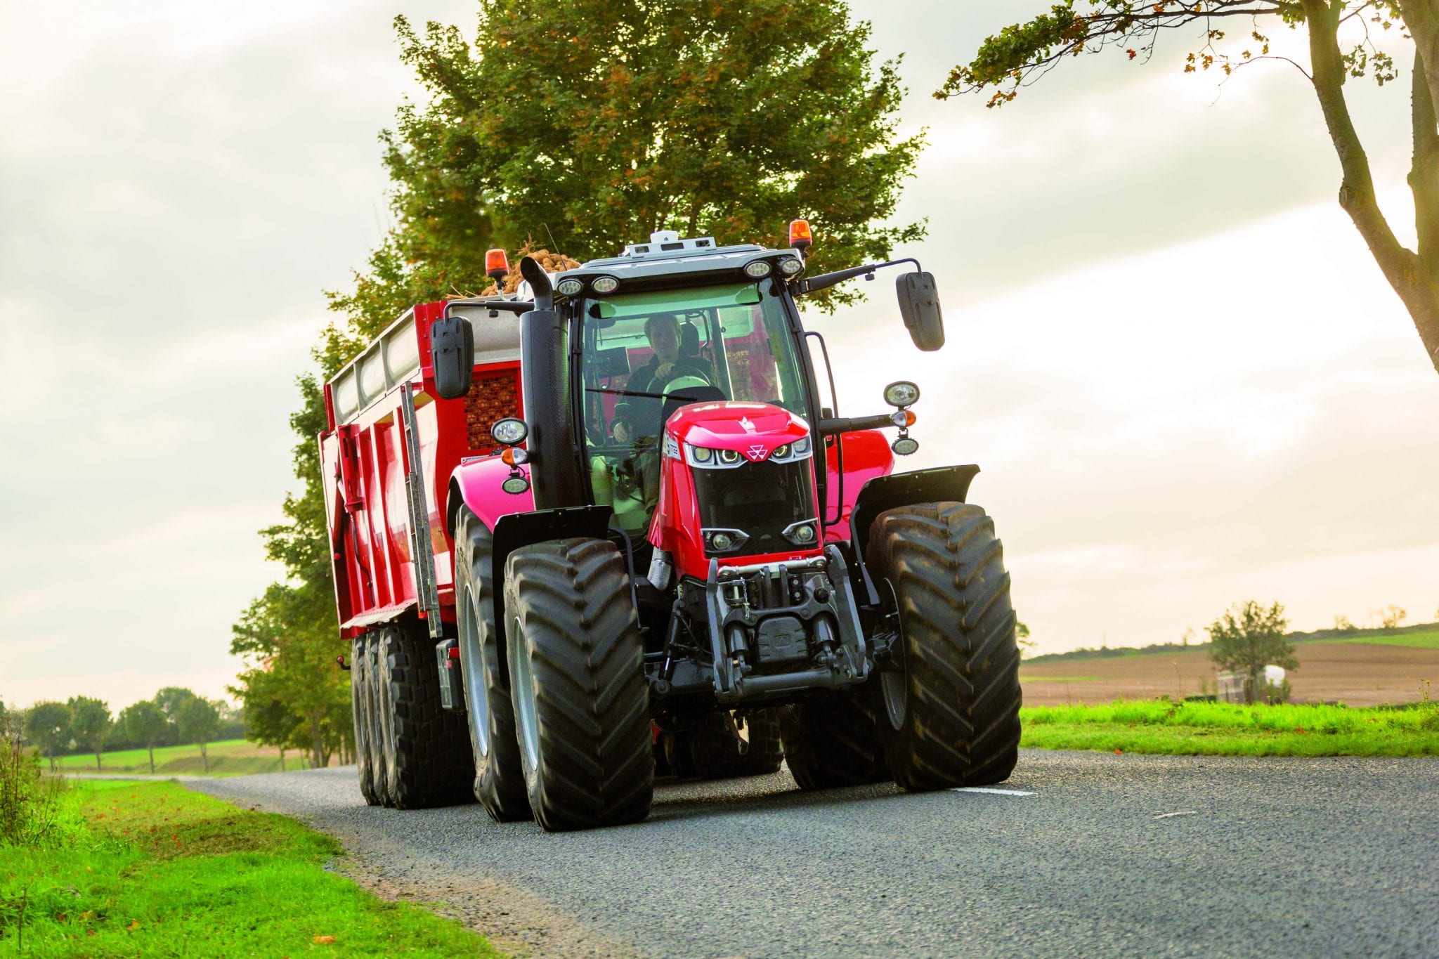
<path id="1" fill-rule="evenodd" d="M 342 850 L 294 820 L 168 782 L 83 784 L 65 801 L 76 838 L 0 847 L 0 955 L 22 955 L 22 907 L 26 956 L 498 955 L 327 871 Z"/>

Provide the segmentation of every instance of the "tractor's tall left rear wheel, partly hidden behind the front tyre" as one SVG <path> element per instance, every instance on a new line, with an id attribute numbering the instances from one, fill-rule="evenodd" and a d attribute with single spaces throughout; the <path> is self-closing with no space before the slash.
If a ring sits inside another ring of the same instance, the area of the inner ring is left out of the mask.
<path id="1" fill-rule="evenodd" d="M 475 798 L 496 822 L 528 820 L 530 798 L 515 739 L 515 707 L 499 669 L 492 536 L 468 506 L 459 512 L 455 551 L 455 621 L 475 758 Z"/>

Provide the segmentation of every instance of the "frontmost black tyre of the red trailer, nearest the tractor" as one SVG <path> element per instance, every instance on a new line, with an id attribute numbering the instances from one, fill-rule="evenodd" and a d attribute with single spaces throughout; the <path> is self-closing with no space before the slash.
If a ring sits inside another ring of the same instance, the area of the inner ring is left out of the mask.
<path id="1" fill-rule="evenodd" d="M 433 644 L 397 627 L 380 630 L 377 638 L 381 801 L 396 809 L 472 802 L 465 717 L 440 707 Z"/>

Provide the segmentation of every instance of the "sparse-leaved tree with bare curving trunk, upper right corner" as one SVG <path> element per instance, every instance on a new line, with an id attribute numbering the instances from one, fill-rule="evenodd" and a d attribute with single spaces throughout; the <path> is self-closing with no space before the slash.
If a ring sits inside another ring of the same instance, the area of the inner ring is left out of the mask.
<path id="1" fill-rule="evenodd" d="M 1230 23 L 1252 29 L 1233 52 L 1220 52 L 1215 45 L 1225 40 L 1222 27 Z M 1266 23 L 1307 27 L 1309 69 L 1271 53 L 1262 32 L 1271 29 Z M 1350 23 L 1363 30 L 1363 37 L 1344 49 L 1340 27 Z M 1419 239 L 1415 250 L 1399 242 L 1379 208 L 1368 157 L 1344 99 L 1347 78 L 1368 75 L 1384 85 L 1399 76 L 1393 58 L 1370 39 L 1370 26 L 1389 30 L 1394 24 L 1416 45 L 1409 173 Z M 1439 69 L 1426 69 L 1439 68 L 1439 0 L 1061 0 L 1049 13 L 984 40 L 968 65 L 954 68 L 935 96 L 991 89 L 989 105 L 999 106 L 1065 59 L 1108 47 L 1131 60 L 1148 60 L 1161 32 L 1183 27 L 1193 29 L 1202 43 L 1189 55 L 1184 72 L 1219 69 L 1227 76 L 1248 63 L 1279 59 L 1312 85 L 1340 160 L 1340 207 L 1404 303 L 1439 371 Z"/>

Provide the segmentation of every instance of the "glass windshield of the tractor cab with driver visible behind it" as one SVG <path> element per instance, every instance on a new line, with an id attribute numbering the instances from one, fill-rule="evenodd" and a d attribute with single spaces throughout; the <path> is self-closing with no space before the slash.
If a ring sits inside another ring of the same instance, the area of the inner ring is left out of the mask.
<path id="1" fill-rule="evenodd" d="M 768 282 L 590 299 L 584 436 L 596 503 L 639 531 L 659 496 L 659 436 L 686 400 L 773 403 L 812 420 L 794 344 Z"/>

